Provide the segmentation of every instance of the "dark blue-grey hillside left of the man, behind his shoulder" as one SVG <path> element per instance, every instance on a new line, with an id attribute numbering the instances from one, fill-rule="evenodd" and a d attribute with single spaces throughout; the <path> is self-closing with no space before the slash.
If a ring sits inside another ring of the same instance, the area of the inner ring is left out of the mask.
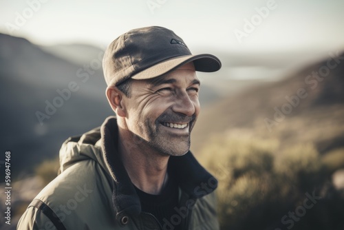
<path id="1" fill-rule="evenodd" d="M 14 175 L 57 156 L 68 136 L 112 114 L 98 63 L 94 56 L 85 70 L 25 39 L 0 34 L 1 148 L 12 151 Z"/>

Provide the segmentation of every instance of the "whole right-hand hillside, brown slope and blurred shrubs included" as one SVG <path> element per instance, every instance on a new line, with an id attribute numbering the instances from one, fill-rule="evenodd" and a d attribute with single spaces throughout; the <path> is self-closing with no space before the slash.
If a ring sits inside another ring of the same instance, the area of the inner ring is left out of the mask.
<path id="1" fill-rule="evenodd" d="M 344 54 L 332 56 L 201 112 L 192 149 L 219 182 L 221 229 L 343 227 Z"/>

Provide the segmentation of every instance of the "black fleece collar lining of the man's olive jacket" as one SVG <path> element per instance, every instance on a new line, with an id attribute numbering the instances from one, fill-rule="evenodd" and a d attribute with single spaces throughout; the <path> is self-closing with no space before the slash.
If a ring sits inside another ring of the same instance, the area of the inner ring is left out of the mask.
<path id="1" fill-rule="evenodd" d="M 112 201 L 117 213 L 138 215 L 141 212 L 140 199 L 118 155 L 118 126 L 115 116 L 109 116 L 100 127 L 105 163 L 114 182 Z M 180 188 L 193 198 L 201 198 L 213 192 L 217 180 L 197 162 L 191 151 L 184 156 L 171 156 L 171 171 L 175 174 Z M 206 186 L 206 187 L 205 187 Z"/>

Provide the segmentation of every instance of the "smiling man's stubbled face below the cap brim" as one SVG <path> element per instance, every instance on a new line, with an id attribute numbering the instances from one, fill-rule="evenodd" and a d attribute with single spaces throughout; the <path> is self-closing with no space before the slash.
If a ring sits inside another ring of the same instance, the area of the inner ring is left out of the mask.
<path id="1" fill-rule="evenodd" d="M 133 80 L 131 97 L 123 98 L 129 131 L 160 154 L 186 154 L 200 112 L 199 90 L 193 63 L 155 79 Z"/>

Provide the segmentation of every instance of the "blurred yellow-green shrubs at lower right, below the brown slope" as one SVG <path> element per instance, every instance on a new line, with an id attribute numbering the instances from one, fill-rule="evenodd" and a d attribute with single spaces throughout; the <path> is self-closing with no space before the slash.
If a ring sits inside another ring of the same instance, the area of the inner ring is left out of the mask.
<path id="1" fill-rule="evenodd" d="M 329 222 L 338 223 L 344 200 L 323 167 L 323 162 L 334 160 L 321 158 L 312 144 L 282 149 L 276 140 L 233 136 L 216 136 L 210 143 L 204 147 L 200 162 L 219 180 L 222 229 L 287 229 L 281 218 L 303 205 L 306 194 L 313 193 L 321 194 L 323 200 L 293 229 L 331 229 Z M 336 153 L 332 156 L 342 159 Z"/>

